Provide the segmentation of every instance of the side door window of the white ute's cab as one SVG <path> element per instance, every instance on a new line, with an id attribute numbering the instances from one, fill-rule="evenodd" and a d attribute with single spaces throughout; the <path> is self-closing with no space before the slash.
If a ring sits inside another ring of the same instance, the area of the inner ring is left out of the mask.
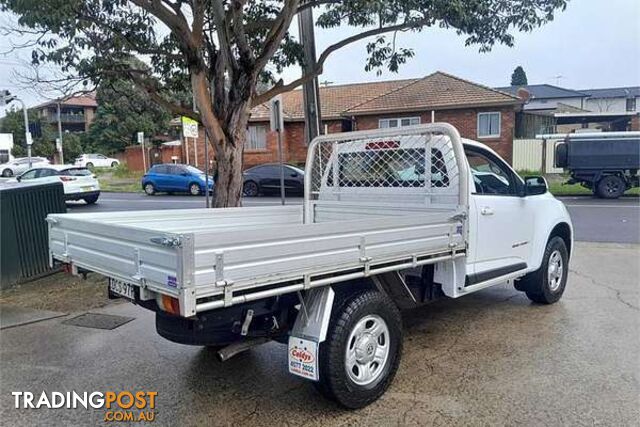
<path id="1" fill-rule="evenodd" d="M 497 157 L 484 150 L 465 150 L 471 168 L 473 194 L 516 195 L 517 184 L 511 170 Z"/>

